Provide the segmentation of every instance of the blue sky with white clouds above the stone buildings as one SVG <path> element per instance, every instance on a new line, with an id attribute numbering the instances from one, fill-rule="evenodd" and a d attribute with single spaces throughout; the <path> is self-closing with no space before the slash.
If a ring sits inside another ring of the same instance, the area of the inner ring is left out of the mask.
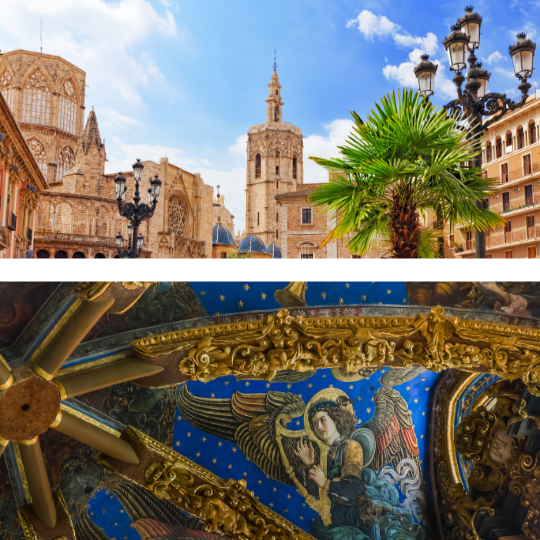
<path id="1" fill-rule="evenodd" d="M 483 0 L 479 58 L 490 90 L 517 96 L 508 45 L 535 39 L 540 1 Z M 264 122 L 277 48 L 284 120 L 303 131 L 305 179 L 324 170 L 309 155 L 332 157 L 384 93 L 416 85 L 412 67 L 428 52 L 440 67 L 436 104 L 454 97 L 442 39 L 464 11 L 456 2 L 390 0 L 2 0 L 0 49 L 39 50 L 87 72 L 109 159 L 106 171 L 136 157 L 169 157 L 223 186 L 242 229 L 245 141 Z M 536 77 L 533 77 L 533 84 Z"/>

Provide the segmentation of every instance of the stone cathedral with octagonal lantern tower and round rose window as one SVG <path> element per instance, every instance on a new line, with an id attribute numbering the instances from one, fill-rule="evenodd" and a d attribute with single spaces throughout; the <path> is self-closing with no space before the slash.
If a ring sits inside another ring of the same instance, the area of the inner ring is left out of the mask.
<path id="1" fill-rule="evenodd" d="M 57 56 L 13 51 L 0 57 L 0 92 L 49 184 L 37 210 L 39 258 L 114 258 L 116 235 L 128 237 L 128 221 L 118 212 L 116 173 L 105 174 L 105 143 L 93 108 L 84 126 L 85 86 L 85 73 Z M 153 217 L 139 231 L 145 239 L 141 256 L 210 257 L 213 188 L 167 158 L 143 163 L 142 202 L 153 176 L 163 184 Z M 124 176 L 131 201 L 133 172 Z"/>

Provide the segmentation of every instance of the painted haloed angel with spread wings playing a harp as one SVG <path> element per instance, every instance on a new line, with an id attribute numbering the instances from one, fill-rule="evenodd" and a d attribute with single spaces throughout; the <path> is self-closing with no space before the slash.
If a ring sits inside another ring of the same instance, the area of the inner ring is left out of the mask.
<path id="1" fill-rule="evenodd" d="M 352 400 L 335 388 L 306 406 L 292 393 L 209 399 L 183 386 L 178 408 L 194 427 L 235 443 L 267 476 L 295 486 L 319 514 L 310 530 L 319 540 L 423 539 L 395 485 L 376 475 L 404 458 L 421 474 L 411 413 L 393 388 L 380 388 L 373 401 L 373 417 L 359 428 Z M 304 429 L 287 429 L 300 415 Z"/>

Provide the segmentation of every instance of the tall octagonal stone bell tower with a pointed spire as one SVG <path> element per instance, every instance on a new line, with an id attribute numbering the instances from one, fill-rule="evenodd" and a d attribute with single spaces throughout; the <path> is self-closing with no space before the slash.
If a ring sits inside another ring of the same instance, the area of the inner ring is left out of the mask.
<path id="1" fill-rule="evenodd" d="M 302 131 L 283 122 L 281 84 L 274 61 L 268 85 L 266 122 L 248 131 L 246 173 L 246 233 L 268 245 L 280 245 L 281 206 L 276 195 L 304 183 Z"/>

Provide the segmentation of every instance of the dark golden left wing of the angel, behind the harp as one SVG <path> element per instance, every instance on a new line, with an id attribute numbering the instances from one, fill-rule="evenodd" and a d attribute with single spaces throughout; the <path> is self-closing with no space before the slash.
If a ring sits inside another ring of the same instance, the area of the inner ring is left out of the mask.
<path id="1" fill-rule="evenodd" d="M 281 413 L 294 418 L 304 412 L 300 396 L 287 392 L 243 394 L 230 399 L 196 397 L 184 385 L 178 392 L 180 414 L 194 427 L 233 442 L 261 471 L 284 484 L 294 485 L 287 474 L 276 441 L 276 419 Z M 292 439 L 283 439 L 293 468 Z M 292 455 L 291 455 L 292 454 Z"/>

